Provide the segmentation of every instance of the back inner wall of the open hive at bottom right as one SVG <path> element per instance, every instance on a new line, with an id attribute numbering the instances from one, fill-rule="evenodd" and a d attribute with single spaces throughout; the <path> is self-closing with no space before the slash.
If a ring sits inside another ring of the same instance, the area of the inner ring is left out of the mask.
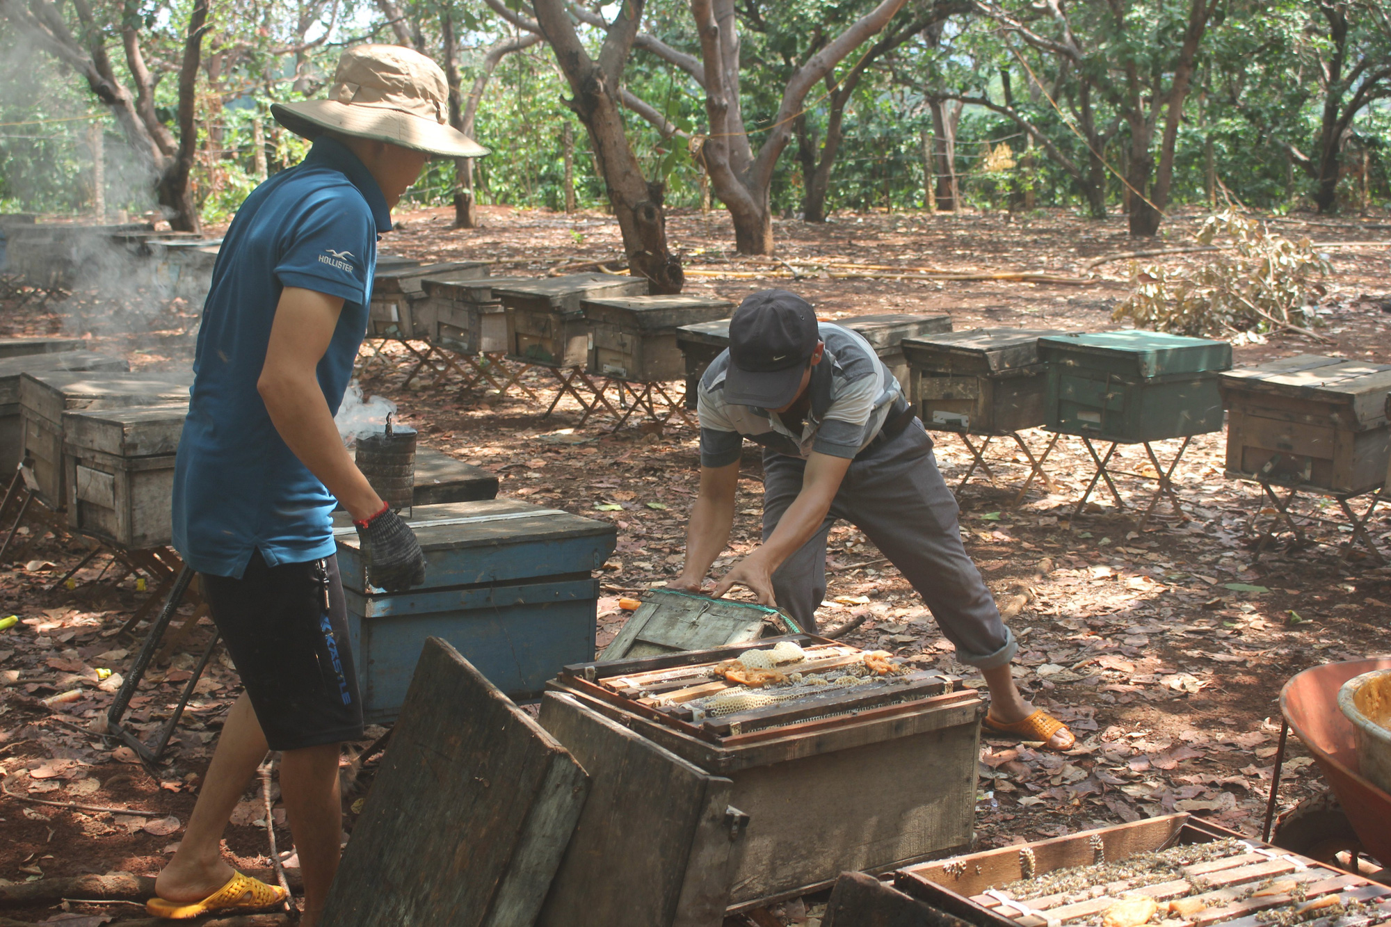
<path id="1" fill-rule="evenodd" d="M 1093 835 L 1102 838 L 1106 859 L 1114 862 L 1173 845 L 1187 821 L 1188 814 L 1166 814 L 1113 828 L 1056 837 L 1027 843 L 1027 846 L 1034 852 L 1034 874 L 1042 876 L 1054 869 L 1089 866 L 1095 862 Z M 904 876 L 950 888 L 958 895 L 979 895 L 992 885 L 1004 885 L 1024 878 L 1024 869 L 1020 863 L 1021 849 L 1020 846 L 1003 846 L 981 853 L 968 853 L 954 860 L 935 860 L 907 869 Z"/>

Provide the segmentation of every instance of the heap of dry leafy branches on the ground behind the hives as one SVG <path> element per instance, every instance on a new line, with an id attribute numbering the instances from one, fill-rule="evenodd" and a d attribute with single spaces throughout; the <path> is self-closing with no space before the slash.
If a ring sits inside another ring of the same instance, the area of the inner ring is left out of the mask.
<path id="1" fill-rule="evenodd" d="M 1223 251 L 1181 270 L 1132 263 L 1134 291 L 1111 317 L 1187 335 L 1313 334 L 1306 306 L 1326 292 L 1317 277 L 1330 271 L 1313 242 L 1289 241 L 1235 210 L 1209 216 L 1198 242 Z"/>

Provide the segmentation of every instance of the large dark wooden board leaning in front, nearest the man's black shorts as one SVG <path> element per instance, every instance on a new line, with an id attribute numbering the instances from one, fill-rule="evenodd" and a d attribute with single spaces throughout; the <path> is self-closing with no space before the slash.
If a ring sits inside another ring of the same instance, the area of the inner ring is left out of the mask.
<path id="1" fill-rule="evenodd" d="M 555 738 L 430 639 L 320 923 L 530 924 L 588 788 Z"/>

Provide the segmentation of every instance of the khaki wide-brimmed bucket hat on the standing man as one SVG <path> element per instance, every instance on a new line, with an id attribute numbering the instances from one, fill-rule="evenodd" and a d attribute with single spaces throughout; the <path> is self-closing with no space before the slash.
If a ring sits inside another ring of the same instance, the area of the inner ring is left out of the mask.
<path id="1" fill-rule="evenodd" d="M 398 45 L 345 50 L 327 100 L 274 103 L 270 111 L 305 138 L 332 129 L 447 157 L 488 153 L 449 125 L 449 89 L 440 65 Z"/>

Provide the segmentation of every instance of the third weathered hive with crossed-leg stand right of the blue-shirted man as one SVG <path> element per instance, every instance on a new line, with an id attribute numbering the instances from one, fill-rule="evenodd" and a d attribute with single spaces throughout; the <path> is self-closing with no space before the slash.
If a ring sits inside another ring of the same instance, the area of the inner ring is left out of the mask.
<path id="1" fill-rule="evenodd" d="M 593 331 L 580 302 L 645 295 L 647 280 L 600 273 L 565 274 L 497 287 L 494 292 L 506 309 L 508 360 L 548 370 L 558 381 L 555 398 L 540 418 L 549 418 L 566 395 L 580 404 L 584 420 L 600 405 L 615 419 L 623 418 L 586 372 Z M 586 398 L 581 388 L 591 398 Z"/>

